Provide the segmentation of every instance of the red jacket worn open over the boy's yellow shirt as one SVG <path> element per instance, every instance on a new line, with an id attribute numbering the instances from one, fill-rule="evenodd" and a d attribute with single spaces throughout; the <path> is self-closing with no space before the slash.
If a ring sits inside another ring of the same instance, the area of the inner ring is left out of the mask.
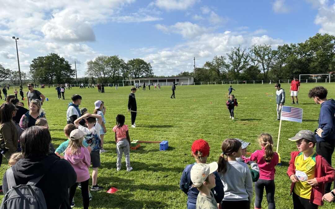
<path id="1" fill-rule="evenodd" d="M 295 174 L 294 160 L 298 154 L 299 151 L 291 152 L 291 160 L 287 170 L 288 176 Z M 325 193 L 325 184 L 334 181 L 335 170 L 328 164 L 326 159 L 319 154 L 316 154 L 315 157 L 314 175 L 319 185 L 312 187 L 310 202 L 316 205 L 323 205 L 322 196 Z M 294 183 L 292 182 L 290 194 L 292 194 L 293 187 Z"/>

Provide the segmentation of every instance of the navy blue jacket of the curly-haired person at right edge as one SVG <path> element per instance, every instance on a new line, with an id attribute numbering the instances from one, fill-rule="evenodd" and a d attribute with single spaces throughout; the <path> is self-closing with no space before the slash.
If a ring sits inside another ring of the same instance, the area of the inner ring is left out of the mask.
<path id="1" fill-rule="evenodd" d="M 321 104 L 319 126 L 323 132 L 321 137 L 315 134 L 317 141 L 335 140 L 335 101 L 329 99 Z"/>

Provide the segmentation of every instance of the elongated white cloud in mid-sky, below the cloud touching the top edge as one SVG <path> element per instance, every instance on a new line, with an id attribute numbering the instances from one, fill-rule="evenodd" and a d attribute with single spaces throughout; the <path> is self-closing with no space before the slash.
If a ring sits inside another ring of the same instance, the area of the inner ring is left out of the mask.
<path id="1" fill-rule="evenodd" d="M 196 37 L 200 34 L 212 30 L 211 28 L 201 27 L 197 24 L 191 22 L 177 22 L 171 26 L 165 26 L 161 24 L 156 24 L 155 27 L 164 33 L 176 33 L 181 34 L 184 38 L 186 37 Z"/>

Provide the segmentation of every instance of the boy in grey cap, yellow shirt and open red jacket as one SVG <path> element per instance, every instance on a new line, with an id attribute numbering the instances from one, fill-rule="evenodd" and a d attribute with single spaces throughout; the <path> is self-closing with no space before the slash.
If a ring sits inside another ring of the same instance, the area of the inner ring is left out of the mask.
<path id="1" fill-rule="evenodd" d="M 323 205 L 325 184 L 334 180 L 334 169 L 314 151 L 316 137 L 310 130 L 301 130 L 294 137 L 299 151 L 291 152 L 287 175 L 290 177 L 294 208 L 318 208 Z"/>

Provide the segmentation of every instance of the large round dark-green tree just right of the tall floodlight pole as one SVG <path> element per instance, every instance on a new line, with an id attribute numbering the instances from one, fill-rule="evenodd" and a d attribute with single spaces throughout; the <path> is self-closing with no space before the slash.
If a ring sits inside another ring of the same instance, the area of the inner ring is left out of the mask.
<path id="1" fill-rule="evenodd" d="M 72 80 L 75 72 L 67 60 L 55 53 L 32 60 L 31 75 L 41 83 L 67 83 Z"/>

